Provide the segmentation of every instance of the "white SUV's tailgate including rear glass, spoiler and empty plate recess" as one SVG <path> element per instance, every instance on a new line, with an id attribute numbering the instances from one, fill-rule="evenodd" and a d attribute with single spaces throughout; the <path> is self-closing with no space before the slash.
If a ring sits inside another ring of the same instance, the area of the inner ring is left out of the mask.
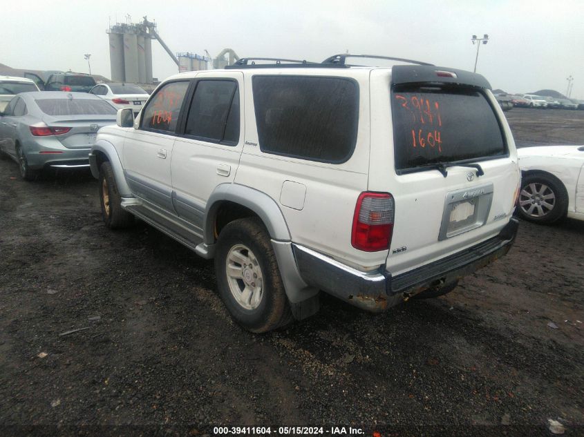
<path id="1" fill-rule="evenodd" d="M 395 199 L 386 270 L 397 275 L 497 235 L 520 176 L 509 126 L 482 76 L 434 66 L 392 74 L 383 84 L 390 127 L 372 135 L 369 189 Z M 371 94 L 382 105 L 379 79 Z M 389 150 L 376 156 L 384 135 Z"/>

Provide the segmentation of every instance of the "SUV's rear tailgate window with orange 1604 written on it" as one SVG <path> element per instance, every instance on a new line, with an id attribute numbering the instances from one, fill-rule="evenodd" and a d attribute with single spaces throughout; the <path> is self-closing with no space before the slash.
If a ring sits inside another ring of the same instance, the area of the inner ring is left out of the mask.
<path id="1" fill-rule="evenodd" d="M 390 95 L 397 173 L 508 155 L 502 128 L 482 91 L 417 86 Z"/>

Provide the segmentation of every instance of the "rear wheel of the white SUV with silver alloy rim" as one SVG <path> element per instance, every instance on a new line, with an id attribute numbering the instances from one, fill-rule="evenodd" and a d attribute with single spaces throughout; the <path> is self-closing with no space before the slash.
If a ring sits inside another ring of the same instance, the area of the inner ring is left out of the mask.
<path id="1" fill-rule="evenodd" d="M 272 331 L 290 322 L 270 236 L 257 218 L 234 220 L 221 230 L 215 274 L 225 307 L 248 331 Z"/>

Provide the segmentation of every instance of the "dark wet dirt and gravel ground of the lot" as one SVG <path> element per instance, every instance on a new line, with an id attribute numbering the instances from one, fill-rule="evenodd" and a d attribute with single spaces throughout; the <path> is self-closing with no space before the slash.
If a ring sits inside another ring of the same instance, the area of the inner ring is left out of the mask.
<path id="1" fill-rule="evenodd" d="M 519 143 L 583 138 L 584 111 L 507 116 Z M 107 230 L 88 172 L 23 182 L 1 159 L 0 436 L 584 435 L 583 284 L 584 222 L 522 222 L 442 298 L 371 315 L 323 295 L 254 335 L 211 262 L 145 224 Z"/>

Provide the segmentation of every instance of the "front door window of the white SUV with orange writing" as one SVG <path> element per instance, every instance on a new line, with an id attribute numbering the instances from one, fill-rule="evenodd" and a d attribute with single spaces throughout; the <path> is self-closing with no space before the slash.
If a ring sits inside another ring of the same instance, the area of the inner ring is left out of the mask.
<path id="1" fill-rule="evenodd" d="M 170 82 L 160 88 L 144 108 L 140 127 L 174 132 L 187 88 L 189 81 Z"/>

